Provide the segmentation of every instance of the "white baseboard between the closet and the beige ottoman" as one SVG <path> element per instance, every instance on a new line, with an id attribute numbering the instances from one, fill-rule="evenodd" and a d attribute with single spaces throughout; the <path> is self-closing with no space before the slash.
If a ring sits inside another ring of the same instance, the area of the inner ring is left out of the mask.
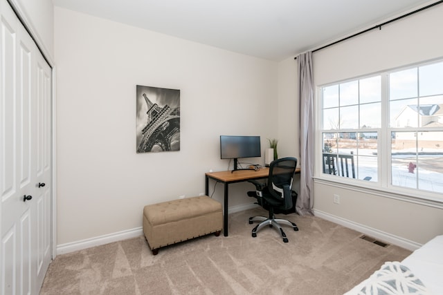
<path id="1" fill-rule="evenodd" d="M 97 236 L 94 238 L 88 238 L 86 240 L 78 240 L 75 242 L 68 242 L 66 244 L 57 245 L 57 255 L 70 253 L 82 249 L 96 247 L 100 245 L 109 244 L 110 242 L 116 242 L 118 240 L 126 240 L 128 238 L 136 238 L 143 236 L 143 228 L 137 227 L 135 229 L 128 229 L 126 231 L 118 231 L 114 234 L 107 234 L 104 236 Z"/>

